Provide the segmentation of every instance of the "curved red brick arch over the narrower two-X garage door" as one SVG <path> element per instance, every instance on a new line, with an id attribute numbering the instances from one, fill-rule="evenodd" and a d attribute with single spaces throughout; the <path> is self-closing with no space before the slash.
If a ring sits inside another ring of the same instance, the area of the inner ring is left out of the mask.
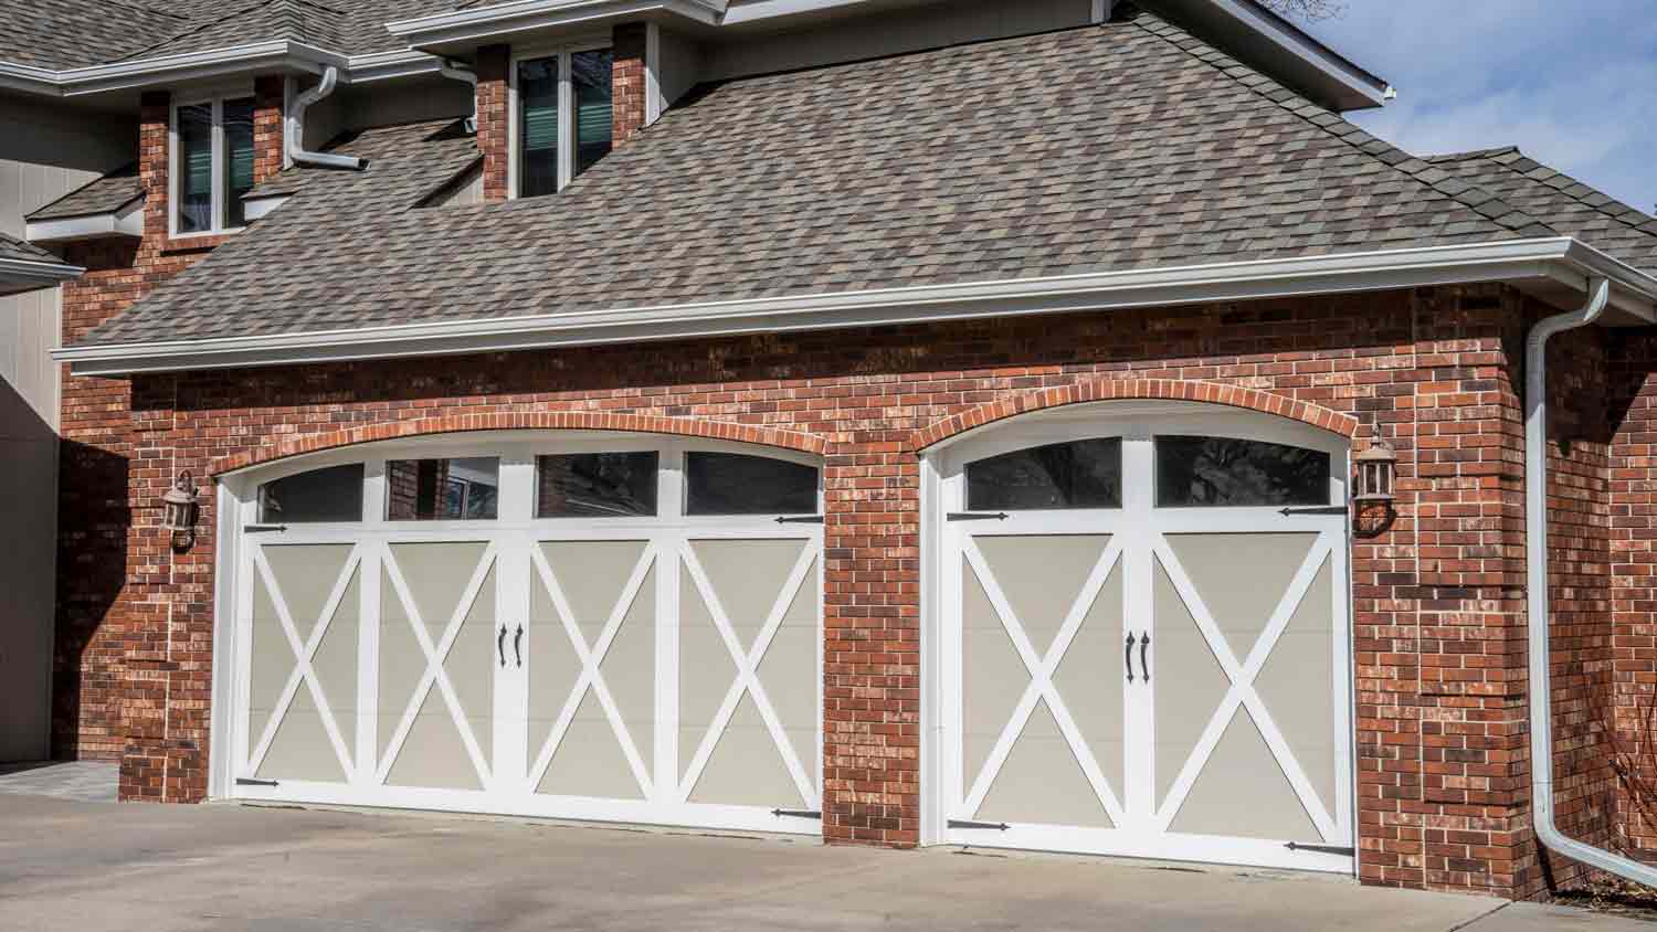
<path id="1" fill-rule="evenodd" d="M 926 447 L 941 444 L 958 434 L 984 427 L 986 424 L 994 424 L 996 420 L 1016 417 L 1019 414 L 1062 407 L 1067 404 L 1122 399 L 1196 401 L 1229 407 L 1244 407 L 1311 424 L 1312 427 L 1321 427 L 1342 437 L 1354 437 L 1359 430 L 1357 419 L 1349 414 L 1341 414 L 1339 411 L 1317 404 L 1256 389 L 1180 379 L 1094 379 L 1070 386 L 1037 389 L 951 414 L 949 417 L 935 420 L 933 424 L 915 430 L 915 434 L 910 435 L 908 447 L 911 450 L 925 450 Z"/>

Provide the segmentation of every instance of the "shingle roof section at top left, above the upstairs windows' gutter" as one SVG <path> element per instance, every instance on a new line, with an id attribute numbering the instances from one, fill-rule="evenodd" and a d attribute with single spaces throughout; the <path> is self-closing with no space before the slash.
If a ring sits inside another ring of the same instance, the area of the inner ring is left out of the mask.
<path id="1" fill-rule="evenodd" d="M 396 51 L 386 23 L 454 0 L 0 0 L 0 61 L 81 68 L 288 38 L 345 55 Z"/>

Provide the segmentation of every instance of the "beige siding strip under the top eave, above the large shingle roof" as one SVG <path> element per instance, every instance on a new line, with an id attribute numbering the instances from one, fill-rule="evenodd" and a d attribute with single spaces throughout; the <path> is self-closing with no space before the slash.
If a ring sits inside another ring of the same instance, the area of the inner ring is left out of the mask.
<path id="1" fill-rule="evenodd" d="M 703 79 L 762 74 L 855 61 L 964 41 L 1080 26 L 1092 0 L 959 0 L 916 3 L 911 10 L 863 15 L 789 35 L 722 38 L 706 46 Z"/>

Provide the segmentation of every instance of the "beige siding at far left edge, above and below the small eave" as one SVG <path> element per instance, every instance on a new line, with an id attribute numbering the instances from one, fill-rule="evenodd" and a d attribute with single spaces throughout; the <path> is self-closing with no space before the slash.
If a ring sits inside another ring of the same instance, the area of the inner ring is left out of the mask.
<path id="1" fill-rule="evenodd" d="M 0 232 L 138 157 L 136 129 L 108 116 L 0 99 Z M 48 753 L 56 528 L 56 288 L 0 298 L 0 761 Z"/>

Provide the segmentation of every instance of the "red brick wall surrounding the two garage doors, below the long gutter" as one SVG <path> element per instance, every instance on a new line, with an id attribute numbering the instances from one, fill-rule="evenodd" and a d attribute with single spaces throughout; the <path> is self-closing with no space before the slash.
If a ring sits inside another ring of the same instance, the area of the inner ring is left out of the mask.
<path id="1" fill-rule="evenodd" d="M 1526 809 L 1514 336 L 1528 316 L 1514 293 L 1483 286 L 149 376 L 134 389 L 134 424 L 154 429 L 134 455 L 167 468 L 134 472 L 131 495 L 154 500 L 169 470 L 202 472 L 303 447 L 307 437 L 330 442 L 365 424 L 451 414 L 633 414 L 819 437 L 828 490 L 824 831 L 833 841 L 913 844 L 915 432 L 984 402 L 1097 379 L 1220 382 L 1317 404 L 1350 414 L 1360 440 L 1379 434 L 1400 455 L 1397 520 L 1355 541 L 1352 560 L 1360 874 L 1374 884 L 1529 896 L 1546 877 Z M 1568 507 L 1584 516 L 1556 531 L 1571 555 L 1561 576 L 1569 586 L 1592 578 L 1604 553 L 1604 535 L 1592 530 L 1604 450 L 1582 444 L 1561 462 L 1556 495 L 1587 502 Z M 202 526 L 212 526 L 210 512 Z M 182 713 L 138 732 L 128 757 L 144 761 L 147 781 L 126 781 L 129 796 L 152 795 L 157 780 L 171 798 L 205 793 L 212 546 L 204 536 L 187 558 L 164 560 L 166 583 L 157 574 L 131 586 L 144 637 L 161 644 L 166 631 L 159 674 Z M 1564 664 L 1589 664 L 1597 603 L 1563 593 L 1558 604 L 1586 626 L 1568 634 L 1586 654 Z M 1584 687 L 1561 682 L 1566 712 L 1576 713 L 1574 690 Z M 1592 766 L 1571 771 L 1599 780 Z"/>

